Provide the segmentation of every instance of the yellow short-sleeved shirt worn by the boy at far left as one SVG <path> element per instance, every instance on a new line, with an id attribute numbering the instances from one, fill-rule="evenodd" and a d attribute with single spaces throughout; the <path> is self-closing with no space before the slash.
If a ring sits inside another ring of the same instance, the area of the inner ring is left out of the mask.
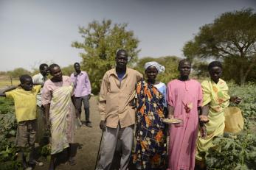
<path id="1" fill-rule="evenodd" d="M 36 118 L 36 95 L 41 85 L 34 85 L 31 91 L 16 88 L 5 93 L 7 98 L 14 99 L 15 115 L 17 121 L 28 121 Z"/>

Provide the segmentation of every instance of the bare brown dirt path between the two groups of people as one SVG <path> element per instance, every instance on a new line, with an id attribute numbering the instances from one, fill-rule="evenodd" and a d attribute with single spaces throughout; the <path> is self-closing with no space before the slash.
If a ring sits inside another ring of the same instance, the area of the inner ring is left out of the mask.
<path id="1" fill-rule="evenodd" d="M 60 153 L 60 159 L 57 161 L 56 170 L 94 170 L 97 152 L 100 146 L 100 138 L 102 131 L 100 130 L 100 113 L 97 107 L 97 96 L 90 99 L 90 120 L 93 127 L 82 126 L 75 132 L 75 144 L 72 149 L 72 155 L 75 156 L 75 166 L 70 166 L 66 162 L 66 152 Z M 81 117 L 82 122 L 85 121 L 84 110 Z M 118 155 L 118 154 L 117 154 Z M 113 160 L 111 170 L 118 169 L 119 160 L 117 155 Z M 46 170 L 49 167 L 49 160 L 44 160 L 44 166 L 35 166 L 35 170 Z M 131 163 L 130 163 L 131 164 Z M 134 169 L 130 165 L 129 169 Z"/>

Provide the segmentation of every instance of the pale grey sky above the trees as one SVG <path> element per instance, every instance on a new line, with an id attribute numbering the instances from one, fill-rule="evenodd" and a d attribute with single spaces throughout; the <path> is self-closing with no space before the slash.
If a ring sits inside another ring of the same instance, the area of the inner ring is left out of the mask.
<path id="1" fill-rule="evenodd" d="M 93 20 L 128 23 L 140 40 L 139 57 L 176 55 L 200 26 L 228 11 L 252 7 L 255 0 L 0 0 L 0 71 L 40 63 L 80 62 L 78 26 Z"/>

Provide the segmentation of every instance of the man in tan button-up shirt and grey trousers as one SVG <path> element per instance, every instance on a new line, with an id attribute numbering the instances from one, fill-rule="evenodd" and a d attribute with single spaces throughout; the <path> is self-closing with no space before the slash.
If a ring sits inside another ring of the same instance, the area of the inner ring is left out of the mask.
<path id="1" fill-rule="evenodd" d="M 100 129 L 104 130 L 103 149 L 97 170 L 108 170 L 114 157 L 119 139 L 122 147 L 120 169 L 128 169 L 133 143 L 135 110 L 131 105 L 135 96 L 135 85 L 142 74 L 127 68 L 128 54 L 121 49 L 116 55 L 116 68 L 103 77 L 100 88 Z"/>

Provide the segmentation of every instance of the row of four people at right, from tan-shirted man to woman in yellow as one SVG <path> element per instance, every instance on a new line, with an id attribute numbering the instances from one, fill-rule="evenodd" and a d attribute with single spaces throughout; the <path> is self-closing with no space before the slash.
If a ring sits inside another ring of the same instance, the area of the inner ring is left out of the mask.
<path id="1" fill-rule="evenodd" d="M 229 102 L 241 102 L 229 96 L 220 78 L 221 63 L 211 62 L 210 79 L 199 83 L 189 77 L 190 61 L 181 60 L 179 77 L 167 86 L 156 80 L 165 71 L 159 63 L 145 63 L 145 78 L 127 63 L 127 52 L 119 50 L 116 67 L 103 77 L 99 104 L 103 142 L 97 170 L 111 168 L 117 143 L 121 170 L 128 169 L 130 157 L 136 169 L 195 169 L 196 160 L 204 161 L 214 146 L 213 138 L 224 134 L 224 109 Z"/>

